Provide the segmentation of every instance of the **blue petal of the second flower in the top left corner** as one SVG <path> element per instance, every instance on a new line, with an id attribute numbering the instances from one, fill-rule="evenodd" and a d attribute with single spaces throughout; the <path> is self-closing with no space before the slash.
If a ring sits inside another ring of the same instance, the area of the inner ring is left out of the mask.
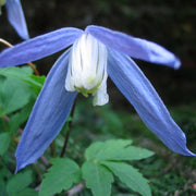
<path id="1" fill-rule="evenodd" d="M 23 9 L 20 0 L 7 0 L 5 2 L 8 19 L 12 26 L 15 28 L 17 34 L 23 39 L 28 39 L 28 30 L 26 27 L 26 22 L 23 13 Z"/>

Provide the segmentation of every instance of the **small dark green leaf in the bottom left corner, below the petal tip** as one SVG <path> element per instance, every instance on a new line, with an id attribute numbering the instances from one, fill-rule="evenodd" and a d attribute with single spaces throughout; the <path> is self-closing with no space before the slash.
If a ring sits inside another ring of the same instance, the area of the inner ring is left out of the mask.
<path id="1" fill-rule="evenodd" d="M 7 192 L 10 196 L 26 188 L 33 181 L 32 171 L 25 171 L 13 175 L 7 185 Z"/>

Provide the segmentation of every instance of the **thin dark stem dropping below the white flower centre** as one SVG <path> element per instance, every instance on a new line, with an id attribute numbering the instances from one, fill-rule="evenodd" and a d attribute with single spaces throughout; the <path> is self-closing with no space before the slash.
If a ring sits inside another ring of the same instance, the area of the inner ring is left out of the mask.
<path id="1" fill-rule="evenodd" d="M 68 131 L 66 134 L 65 134 L 64 145 L 63 145 L 63 148 L 62 148 L 62 151 L 61 151 L 60 157 L 63 157 L 64 154 L 66 152 L 66 149 L 68 149 L 68 143 L 69 143 L 70 133 L 71 133 L 71 128 L 72 128 L 72 122 L 73 122 L 73 115 L 74 115 L 75 105 L 76 105 L 76 100 L 75 100 L 75 102 L 74 102 L 74 105 L 73 105 L 73 107 L 72 107 L 72 111 L 71 111 L 71 113 L 70 113 L 71 121 L 69 121 L 69 131 Z"/>

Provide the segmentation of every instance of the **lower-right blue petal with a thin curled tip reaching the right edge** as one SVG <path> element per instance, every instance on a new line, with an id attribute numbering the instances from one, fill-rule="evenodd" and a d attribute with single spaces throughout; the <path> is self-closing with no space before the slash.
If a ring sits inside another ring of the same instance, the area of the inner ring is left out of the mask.
<path id="1" fill-rule="evenodd" d="M 185 134 L 170 117 L 162 100 L 134 61 L 117 51 L 109 51 L 108 74 L 147 127 L 166 146 L 181 155 L 196 156 L 186 148 Z"/>

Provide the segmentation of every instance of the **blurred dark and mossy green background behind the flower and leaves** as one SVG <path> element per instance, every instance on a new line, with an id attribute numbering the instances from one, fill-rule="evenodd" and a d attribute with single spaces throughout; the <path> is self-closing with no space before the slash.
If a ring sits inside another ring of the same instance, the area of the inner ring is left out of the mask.
<path id="1" fill-rule="evenodd" d="M 196 0 L 22 0 L 22 4 L 30 37 L 61 27 L 84 29 L 96 24 L 156 41 L 173 51 L 182 60 L 177 71 L 136 62 L 186 133 L 188 147 L 196 152 Z M 9 24 L 4 8 L 0 37 L 13 45 L 22 41 Z M 0 45 L 0 50 L 3 48 Z M 35 62 L 41 74 L 48 73 L 59 53 Z M 134 163 L 150 180 L 154 195 L 196 195 L 195 159 L 167 149 L 110 81 L 108 86 L 111 101 L 106 107 L 94 108 L 90 100 L 79 96 L 68 155 L 79 159 L 90 140 L 131 137 L 135 145 L 156 151 L 152 158 Z M 120 191 L 126 194 L 123 185 L 117 189 L 117 195 Z"/>

